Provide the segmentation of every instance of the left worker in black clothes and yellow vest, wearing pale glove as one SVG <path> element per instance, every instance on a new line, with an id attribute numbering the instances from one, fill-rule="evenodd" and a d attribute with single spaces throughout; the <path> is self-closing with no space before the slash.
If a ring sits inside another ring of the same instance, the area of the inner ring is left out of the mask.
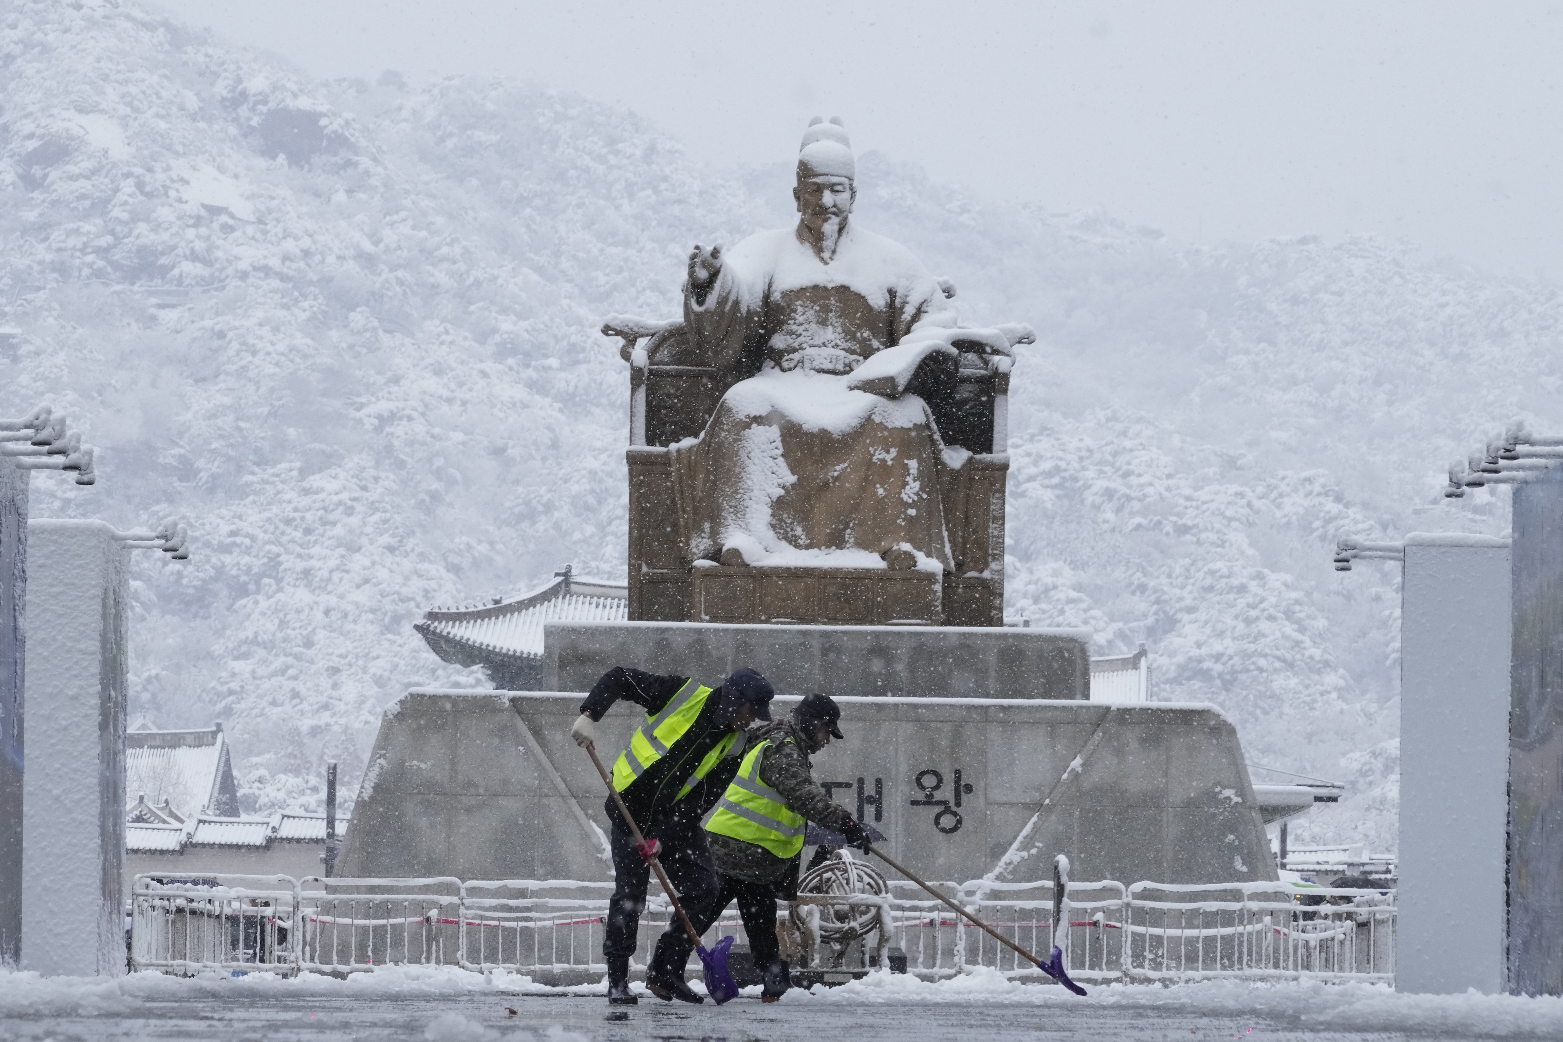
<path id="1" fill-rule="evenodd" d="M 581 715 L 570 728 L 577 745 L 596 744 L 597 722 L 616 701 L 633 701 L 646 722 L 613 764 L 613 787 L 646 837 L 636 845 L 630 826 L 610 797 L 603 805 L 613 825 L 613 898 L 603 925 L 602 953 L 608 964 L 608 1001 L 635 1005 L 630 956 L 646 909 L 650 858 L 661 861 L 678 895 L 689 903 L 711 901 L 721 889 L 700 819 L 716 805 L 738 773 L 744 730 L 771 720 L 771 681 L 752 669 L 735 670 L 721 687 L 705 687 L 689 676 L 661 676 L 616 666 L 597 680 Z M 646 986 L 663 1000 L 703 1001 L 683 973 Z"/>

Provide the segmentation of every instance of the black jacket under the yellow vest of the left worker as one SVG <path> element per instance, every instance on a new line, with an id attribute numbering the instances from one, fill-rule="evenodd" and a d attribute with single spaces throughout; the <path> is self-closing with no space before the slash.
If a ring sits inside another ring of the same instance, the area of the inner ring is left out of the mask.
<path id="1" fill-rule="evenodd" d="M 602 720 L 602 715 L 613 703 L 633 701 L 646 711 L 646 715 L 652 717 L 672 701 L 672 697 L 678 694 L 678 689 L 688 680 L 688 676 L 660 676 L 638 669 L 614 666 L 592 684 L 591 692 L 581 703 L 581 712 L 592 720 Z M 716 801 L 722 798 L 722 792 L 727 790 L 727 784 L 738 773 L 738 764 L 742 762 L 744 751 L 742 739 L 733 745 L 731 755 L 722 758 L 711 769 L 703 783 L 696 783 L 689 795 L 678 800 L 678 790 L 694 775 L 694 769 L 731 731 L 730 726 L 719 722 L 722 717 L 721 705 L 722 700 L 714 697 L 714 694 L 706 698 L 700 715 L 672 744 L 667 755 L 652 764 L 619 794 L 624 797 L 624 805 L 630 809 L 630 815 L 641 826 L 642 833 L 661 833 L 663 828 L 658 823 L 671 823 L 671 819 L 688 819 L 686 825 L 697 822 L 706 811 L 716 806 Z M 614 753 L 614 756 L 617 755 Z M 605 759 L 603 767 L 613 770 L 613 762 Z M 613 803 L 611 797 L 606 808 L 610 820 L 619 822 L 619 808 Z"/>

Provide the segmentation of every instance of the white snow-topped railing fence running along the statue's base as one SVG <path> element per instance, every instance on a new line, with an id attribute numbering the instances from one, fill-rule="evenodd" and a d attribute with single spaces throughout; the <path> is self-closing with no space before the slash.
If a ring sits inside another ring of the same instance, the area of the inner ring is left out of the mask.
<path id="1" fill-rule="evenodd" d="M 1053 937 L 1050 883 L 941 884 L 958 903 L 1046 958 Z M 903 881 L 885 897 L 810 897 L 811 906 L 864 906 L 883 933 L 827 951 L 819 931 L 786 928 L 794 967 L 858 969 L 885 951 L 924 980 L 985 965 L 1022 980 L 1043 973 Z M 436 880 L 292 880 L 211 876 L 131 887 L 131 967 L 352 973 L 395 964 L 510 970 L 556 984 L 600 980 L 602 923 L 611 883 Z M 1302 900 L 1316 901 L 1302 905 Z M 652 894 L 641 915 L 644 958 L 667 925 Z M 1393 894 L 1283 883 L 1175 886 L 1069 883 L 1071 975 L 1082 981 L 1211 976 L 1393 981 Z M 817 922 L 817 919 L 816 919 Z M 738 934 L 736 909 L 706 944 Z M 899 950 L 899 951 L 897 951 Z"/>

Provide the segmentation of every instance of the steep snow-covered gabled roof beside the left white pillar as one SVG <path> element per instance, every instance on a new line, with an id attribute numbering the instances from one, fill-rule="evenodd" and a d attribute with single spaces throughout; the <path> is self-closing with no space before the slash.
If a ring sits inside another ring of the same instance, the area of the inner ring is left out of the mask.
<path id="1" fill-rule="evenodd" d="M 236 815 L 239 789 L 233 781 L 222 725 L 195 731 L 127 733 L 127 812 L 134 812 L 141 797 L 150 806 L 167 801 L 180 819 L 202 812 Z"/>

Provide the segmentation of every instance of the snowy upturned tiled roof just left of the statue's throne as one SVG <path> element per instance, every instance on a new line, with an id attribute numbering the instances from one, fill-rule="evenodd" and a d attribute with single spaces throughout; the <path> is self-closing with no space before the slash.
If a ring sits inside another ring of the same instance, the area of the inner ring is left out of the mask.
<path id="1" fill-rule="evenodd" d="M 542 658 L 542 623 L 621 622 L 630 617 L 624 583 L 561 575 L 522 597 L 470 608 L 436 608 L 413 628 L 435 655 L 456 666 Z"/>

